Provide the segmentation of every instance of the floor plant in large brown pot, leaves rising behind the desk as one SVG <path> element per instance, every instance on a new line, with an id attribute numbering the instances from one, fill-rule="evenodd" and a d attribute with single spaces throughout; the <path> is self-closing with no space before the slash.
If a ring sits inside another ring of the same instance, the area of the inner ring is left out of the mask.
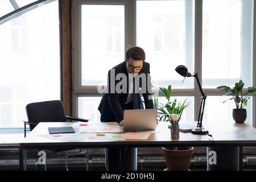
<path id="1" fill-rule="evenodd" d="M 166 98 L 166 103 L 158 102 L 158 97 L 154 96 L 154 106 L 158 109 L 158 121 L 170 121 L 171 114 L 177 114 L 177 123 L 181 119 L 183 110 L 189 105 L 187 100 L 171 101 L 171 85 L 167 88 L 158 88 L 158 92 Z M 170 121 L 171 122 L 171 121 Z M 173 121 L 172 121 L 173 123 Z M 163 147 L 163 153 L 166 158 L 167 169 L 172 171 L 188 171 L 193 147 Z"/>

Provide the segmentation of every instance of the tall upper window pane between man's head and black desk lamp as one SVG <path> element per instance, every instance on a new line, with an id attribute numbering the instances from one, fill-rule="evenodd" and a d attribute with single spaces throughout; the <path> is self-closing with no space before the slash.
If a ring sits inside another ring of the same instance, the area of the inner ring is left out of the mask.
<path id="1" fill-rule="evenodd" d="M 192 79 L 182 84 L 175 68 L 183 64 L 194 70 L 194 1 L 136 2 L 137 46 L 146 52 L 152 85 L 193 88 Z"/>

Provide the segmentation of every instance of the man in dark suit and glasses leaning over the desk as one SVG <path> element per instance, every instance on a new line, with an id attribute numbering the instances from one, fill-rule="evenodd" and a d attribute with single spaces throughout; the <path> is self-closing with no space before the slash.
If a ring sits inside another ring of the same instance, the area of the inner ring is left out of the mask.
<path id="1" fill-rule="evenodd" d="M 153 109 L 150 64 L 142 48 L 132 47 L 126 59 L 109 70 L 108 87 L 98 110 L 101 122 L 118 122 L 122 126 L 123 111 L 144 109 L 139 88 L 142 88 L 146 109 Z M 137 148 L 106 148 L 108 170 L 137 170 Z"/>

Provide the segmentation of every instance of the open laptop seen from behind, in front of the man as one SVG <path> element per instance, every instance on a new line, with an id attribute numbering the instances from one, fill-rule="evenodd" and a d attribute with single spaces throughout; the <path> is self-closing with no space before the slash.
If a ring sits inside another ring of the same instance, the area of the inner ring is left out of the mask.
<path id="1" fill-rule="evenodd" d="M 157 109 L 125 110 L 123 131 L 155 130 Z"/>

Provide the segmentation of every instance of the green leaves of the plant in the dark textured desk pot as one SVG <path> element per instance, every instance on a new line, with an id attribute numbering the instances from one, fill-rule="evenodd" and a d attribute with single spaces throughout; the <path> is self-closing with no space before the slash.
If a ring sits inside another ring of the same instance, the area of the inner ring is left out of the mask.
<path id="1" fill-rule="evenodd" d="M 240 80 L 239 82 L 236 82 L 233 88 L 230 88 L 229 86 L 226 86 L 226 85 L 222 85 L 222 86 L 218 86 L 217 89 L 220 89 L 223 92 L 225 92 L 226 94 L 224 96 L 232 96 L 232 98 L 226 101 L 234 100 L 234 102 L 236 103 L 237 109 L 243 109 L 244 106 L 247 106 L 247 101 L 249 100 L 250 96 L 255 95 L 255 92 L 256 92 L 256 88 L 254 87 L 249 87 L 247 88 L 246 92 L 243 92 L 242 89 L 244 85 L 245 83 L 242 80 Z"/>

